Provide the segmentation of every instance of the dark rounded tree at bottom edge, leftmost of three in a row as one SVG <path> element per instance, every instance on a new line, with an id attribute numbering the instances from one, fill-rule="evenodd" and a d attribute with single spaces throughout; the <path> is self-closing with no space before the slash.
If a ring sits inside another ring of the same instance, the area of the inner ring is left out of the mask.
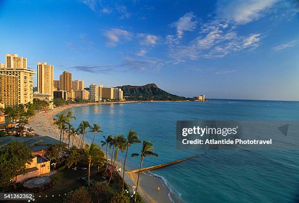
<path id="1" fill-rule="evenodd" d="M 70 192 L 64 203 L 92 203 L 92 199 L 85 187 L 80 187 L 74 192 Z"/>

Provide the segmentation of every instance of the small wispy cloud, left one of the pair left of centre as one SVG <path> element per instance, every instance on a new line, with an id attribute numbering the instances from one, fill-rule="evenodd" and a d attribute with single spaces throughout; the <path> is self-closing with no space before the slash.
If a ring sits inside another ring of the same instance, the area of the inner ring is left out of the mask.
<path id="1" fill-rule="evenodd" d="M 105 36 L 107 38 L 107 44 L 109 46 L 116 46 L 117 43 L 121 43 L 121 40 L 130 40 L 132 37 L 132 33 L 126 30 L 112 28 L 106 31 Z"/>

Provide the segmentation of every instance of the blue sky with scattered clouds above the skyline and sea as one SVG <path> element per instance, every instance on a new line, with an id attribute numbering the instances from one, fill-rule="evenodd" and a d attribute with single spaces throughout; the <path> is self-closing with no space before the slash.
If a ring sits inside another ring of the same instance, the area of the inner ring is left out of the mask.
<path id="1" fill-rule="evenodd" d="M 0 27 L 0 63 L 19 54 L 86 87 L 299 101 L 298 0 L 0 0 Z"/>

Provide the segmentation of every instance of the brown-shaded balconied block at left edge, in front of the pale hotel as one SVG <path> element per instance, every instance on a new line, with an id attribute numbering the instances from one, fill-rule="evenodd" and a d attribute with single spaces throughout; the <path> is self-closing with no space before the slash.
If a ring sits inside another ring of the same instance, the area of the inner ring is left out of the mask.
<path id="1" fill-rule="evenodd" d="M 0 74 L 0 103 L 7 106 L 18 104 L 18 76 Z"/>

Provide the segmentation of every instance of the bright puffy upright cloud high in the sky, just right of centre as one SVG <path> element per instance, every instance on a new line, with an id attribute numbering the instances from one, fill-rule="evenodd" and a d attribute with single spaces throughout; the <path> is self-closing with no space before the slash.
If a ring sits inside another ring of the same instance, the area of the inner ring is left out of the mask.
<path id="1" fill-rule="evenodd" d="M 176 28 L 178 38 L 182 38 L 184 31 L 192 31 L 196 28 L 197 21 L 193 12 L 186 13 L 176 22 L 172 22 L 171 26 Z"/>

